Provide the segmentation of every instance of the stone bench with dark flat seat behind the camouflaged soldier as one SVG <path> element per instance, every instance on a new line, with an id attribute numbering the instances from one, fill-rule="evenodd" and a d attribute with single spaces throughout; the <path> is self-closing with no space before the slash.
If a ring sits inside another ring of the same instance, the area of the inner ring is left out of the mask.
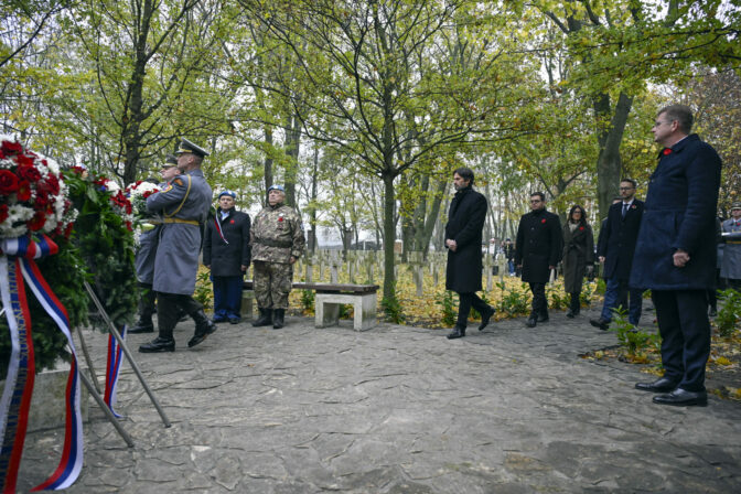
<path id="1" fill-rule="evenodd" d="M 313 290 L 314 296 L 314 326 L 327 327 L 340 323 L 340 305 L 352 304 L 353 329 L 366 331 L 376 325 L 376 292 L 377 284 L 342 284 L 342 283 L 305 283 L 293 282 L 298 290 Z M 253 281 L 245 281 L 243 288 L 243 314 L 253 313 Z M 248 311 L 246 310 L 248 305 Z"/>

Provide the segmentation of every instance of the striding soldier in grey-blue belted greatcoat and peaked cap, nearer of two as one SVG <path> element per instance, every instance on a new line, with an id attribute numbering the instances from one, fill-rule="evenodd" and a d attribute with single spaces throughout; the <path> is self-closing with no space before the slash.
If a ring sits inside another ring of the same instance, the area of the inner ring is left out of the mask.
<path id="1" fill-rule="evenodd" d="M 201 251 L 201 225 L 211 207 L 212 191 L 201 171 L 208 153 L 183 139 L 178 155 L 181 175 L 163 191 L 147 198 L 147 210 L 160 214 L 160 240 L 154 259 L 153 288 L 157 292 L 159 336 L 139 347 L 139 352 L 174 352 L 172 331 L 178 324 L 178 308 L 195 321 L 195 333 L 187 342 L 192 347 L 216 331 L 216 325 L 193 299 Z"/>

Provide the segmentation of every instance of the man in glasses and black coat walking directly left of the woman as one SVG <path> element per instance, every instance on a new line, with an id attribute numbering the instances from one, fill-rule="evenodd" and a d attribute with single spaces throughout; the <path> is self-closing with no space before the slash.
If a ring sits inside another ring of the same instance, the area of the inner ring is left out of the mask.
<path id="1" fill-rule="evenodd" d="M 533 310 L 527 325 L 535 327 L 538 322 L 548 321 L 546 283 L 550 271 L 561 260 L 563 237 L 558 216 L 546 211 L 546 195 L 530 194 L 530 212 L 523 215 L 517 227 L 515 262 L 522 267 L 523 281 L 530 283 Z"/>

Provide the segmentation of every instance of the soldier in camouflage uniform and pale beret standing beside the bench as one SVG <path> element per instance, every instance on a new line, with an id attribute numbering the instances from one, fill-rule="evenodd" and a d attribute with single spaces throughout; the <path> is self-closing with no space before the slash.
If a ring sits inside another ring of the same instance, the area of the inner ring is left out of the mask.
<path id="1" fill-rule="evenodd" d="M 281 185 L 268 189 L 268 207 L 255 217 L 249 230 L 253 247 L 254 288 L 260 316 L 254 326 L 283 327 L 288 294 L 291 292 L 293 264 L 307 243 L 299 214 L 283 204 Z"/>

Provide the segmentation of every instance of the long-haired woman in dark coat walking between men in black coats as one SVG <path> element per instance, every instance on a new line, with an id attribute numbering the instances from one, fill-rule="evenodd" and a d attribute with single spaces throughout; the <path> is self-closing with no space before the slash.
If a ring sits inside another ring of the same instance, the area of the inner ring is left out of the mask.
<path id="1" fill-rule="evenodd" d="M 563 225 L 563 290 L 571 296 L 567 318 L 579 314 L 579 294 L 587 266 L 594 262 L 594 236 L 587 223 L 587 213 L 580 205 L 569 211 L 569 219 Z"/>

